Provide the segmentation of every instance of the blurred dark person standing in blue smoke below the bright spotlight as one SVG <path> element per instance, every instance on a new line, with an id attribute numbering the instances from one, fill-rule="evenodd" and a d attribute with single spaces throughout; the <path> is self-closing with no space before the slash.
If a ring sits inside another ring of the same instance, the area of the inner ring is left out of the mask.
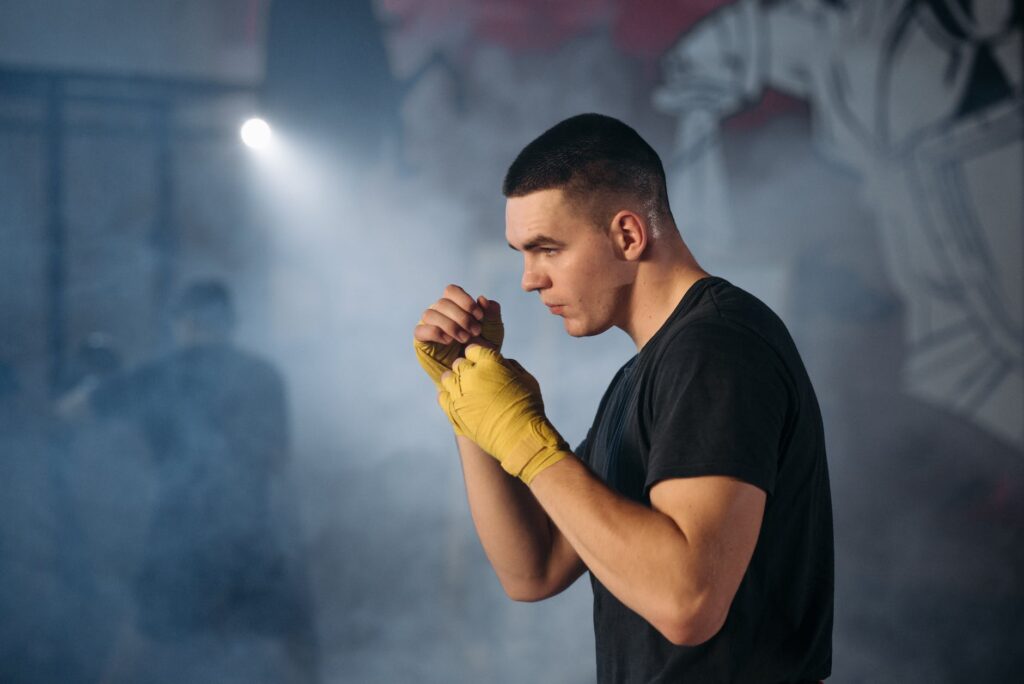
<path id="1" fill-rule="evenodd" d="M 311 682 L 311 605 L 289 496 L 285 387 L 231 343 L 219 281 L 174 310 L 177 348 L 89 394 L 136 421 L 157 494 L 134 584 L 136 618 L 103 681 Z"/>

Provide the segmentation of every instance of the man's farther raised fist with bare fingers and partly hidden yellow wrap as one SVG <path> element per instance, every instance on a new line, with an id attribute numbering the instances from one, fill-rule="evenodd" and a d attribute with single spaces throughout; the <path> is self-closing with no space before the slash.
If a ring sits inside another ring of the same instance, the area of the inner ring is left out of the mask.
<path id="1" fill-rule="evenodd" d="M 438 389 L 441 374 L 452 370 L 467 344 L 500 351 L 504 339 L 498 302 L 482 295 L 474 300 L 457 285 L 444 288 L 444 295 L 423 312 L 413 332 L 416 358 Z"/>

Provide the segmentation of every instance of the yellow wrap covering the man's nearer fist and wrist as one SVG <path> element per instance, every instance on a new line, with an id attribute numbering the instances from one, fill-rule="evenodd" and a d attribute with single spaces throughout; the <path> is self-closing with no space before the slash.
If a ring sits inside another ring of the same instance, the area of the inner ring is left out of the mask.
<path id="1" fill-rule="evenodd" d="M 526 484 L 570 454 L 544 415 L 537 380 L 497 351 L 467 348 L 466 358 L 441 378 L 437 399 L 462 434 Z"/>

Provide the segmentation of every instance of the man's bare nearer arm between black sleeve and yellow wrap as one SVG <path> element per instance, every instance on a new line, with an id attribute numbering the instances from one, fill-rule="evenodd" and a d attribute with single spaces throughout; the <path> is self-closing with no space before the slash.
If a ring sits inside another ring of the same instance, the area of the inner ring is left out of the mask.
<path id="1" fill-rule="evenodd" d="M 647 508 L 577 459 L 544 470 L 530 489 L 601 584 L 669 641 L 694 645 L 722 628 L 761 530 L 762 489 L 673 478 L 651 488 Z"/>

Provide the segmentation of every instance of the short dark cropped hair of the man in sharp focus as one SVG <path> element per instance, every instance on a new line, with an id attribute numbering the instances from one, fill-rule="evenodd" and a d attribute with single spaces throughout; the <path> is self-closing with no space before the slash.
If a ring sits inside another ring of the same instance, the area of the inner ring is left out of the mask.
<path id="1" fill-rule="evenodd" d="M 672 216 L 657 153 L 628 125 L 601 114 L 581 114 L 549 128 L 523 147 L 502 183 L 507 198 L 554 188 L 585 204 L 601 194 L 628 196 L 642 204 L 649 220 Z M 607 209 L 598 204 L 598 211 Z"/>

